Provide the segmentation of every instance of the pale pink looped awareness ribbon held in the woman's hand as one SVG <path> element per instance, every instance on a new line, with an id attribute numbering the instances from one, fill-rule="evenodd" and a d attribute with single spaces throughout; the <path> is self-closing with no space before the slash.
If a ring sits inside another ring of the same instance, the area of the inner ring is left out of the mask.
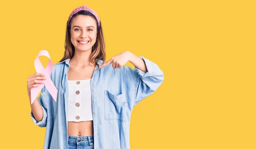
<path id="1" fill-rule="evenodd" d="M 46 66 L 46 68 L 44 69 L 44 66 L 41 64 L 40 59 L 38 58 L 39 56 L 47 56 L 49 58 L 49 62 Z M 50 75 L 52 73 L 52 60 L 50 58 L 50 55 L 48 53 L 48 51 L 46 50 L 42 50 L 38 53 L 38 56 L 35 59 L 35 70 L 37 73 L 42 73 L 44 74 L 44 77 L 46 77 L 45 80 L 41 80 L 43 82 L 43 84 L 41 84 L 38 87 L 33 87 L 30 91 L 31 93 L 31 104 L 35 101 L 35 98 L 38 96 L 38 93 L 40 93 L 40 91 L 42 90 L 42 88 L 45 87 L 47 88 L 47 90 L 49 91 L 49 93 L 51 94 L 52 98 L 55 100 L 55 102 L 57 101 L 57 88 L 55 87 L 55 85 L 53 84 Z M 38 83 L 36 83 L 38 84 Z"/>

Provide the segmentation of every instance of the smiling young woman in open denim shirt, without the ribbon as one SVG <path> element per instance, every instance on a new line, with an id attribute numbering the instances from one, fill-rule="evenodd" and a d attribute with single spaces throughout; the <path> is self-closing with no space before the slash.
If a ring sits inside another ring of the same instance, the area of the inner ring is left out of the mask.
<path id="1" fill-rule="evenodd" d="M 130 51 L 108 62 L 105 55 L 98 15 L 87 6 L 76 8 L 67 21 L 64 57 L 50 75 L 57 102 L 44 86 L 31 104 L 35 125 L 47 127 L 44 149 L 130 148 L 131 111 L 162 84 L 163 71 Z M 134 69 L 124 66 L 128 61 Z M 43 74 L 29 76 L 30 101 L 31 88 L 43 79 Z"/>

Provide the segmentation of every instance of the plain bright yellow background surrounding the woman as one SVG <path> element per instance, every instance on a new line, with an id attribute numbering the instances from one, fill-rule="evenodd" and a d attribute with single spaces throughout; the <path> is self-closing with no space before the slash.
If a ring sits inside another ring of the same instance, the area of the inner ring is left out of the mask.
<path id="1" fill-rule="evenodd" d="M 256 149 L 253 0 L 1 1 L 1 149 L 43 148 L 26 81 L 39 51 L 62 58 L 67 19 L 82 5 L 102 21 L 107 60 L 131 51 L 164 72 L 134 107 L 131 149 Z"/>

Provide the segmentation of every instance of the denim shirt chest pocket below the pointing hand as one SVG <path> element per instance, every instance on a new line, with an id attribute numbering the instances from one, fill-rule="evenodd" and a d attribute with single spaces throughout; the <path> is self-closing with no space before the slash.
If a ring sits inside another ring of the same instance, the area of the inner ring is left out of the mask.
<path id="1" fill-rule="evenodd" d="M 125 122 L 126 115 L 125 94 L 113 95 L 104 91 L 105 120 L 119 120 Z"/>

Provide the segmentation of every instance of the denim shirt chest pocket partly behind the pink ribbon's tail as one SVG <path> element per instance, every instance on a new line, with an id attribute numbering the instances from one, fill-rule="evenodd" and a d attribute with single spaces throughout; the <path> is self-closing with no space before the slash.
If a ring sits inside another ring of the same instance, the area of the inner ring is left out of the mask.
<path id="1" fill-rule="evenodd" d="M 58 93 L 57 93 L 57 102 L 52 98 L 49 91 L 45 91 L 41 93 L 42 103 L 44 108 L 47 110 L 47 121 L 51 119 L 55 119 L 57 117 L 57 110 L 58 110 Z"/>

